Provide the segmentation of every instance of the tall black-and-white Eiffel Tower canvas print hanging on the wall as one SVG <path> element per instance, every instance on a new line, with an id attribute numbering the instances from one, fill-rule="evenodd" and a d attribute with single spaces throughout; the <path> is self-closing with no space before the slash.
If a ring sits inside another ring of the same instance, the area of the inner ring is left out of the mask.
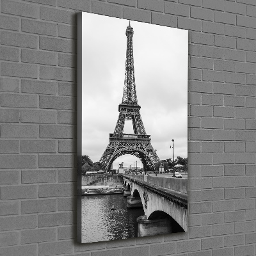
<path id="1" fill-rule="evenodd" d="M 188 230 L 188 31 L 77 15 L 77 239 Z"/>

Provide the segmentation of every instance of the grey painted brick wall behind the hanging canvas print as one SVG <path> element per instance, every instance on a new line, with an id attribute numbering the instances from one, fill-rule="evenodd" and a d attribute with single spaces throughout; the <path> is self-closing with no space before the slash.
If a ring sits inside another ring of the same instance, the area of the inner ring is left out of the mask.
<path id="1" fill-rule="evenodd" d="M 76 242 L 76 13 L 189 30 L 188 233 Z M 254 0 L 20 0 L 0 10 L 0 254 L 256 252 Z"/>

